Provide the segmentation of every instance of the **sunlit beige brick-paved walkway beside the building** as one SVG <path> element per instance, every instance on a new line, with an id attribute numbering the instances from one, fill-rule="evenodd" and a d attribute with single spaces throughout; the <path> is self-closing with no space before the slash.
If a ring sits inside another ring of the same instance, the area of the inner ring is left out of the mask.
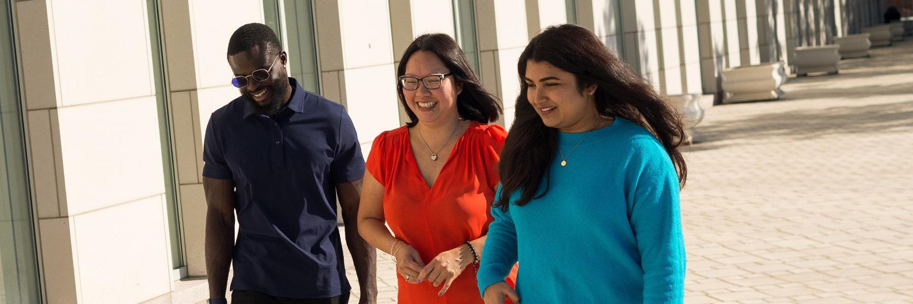
<path id="1" fill-rule="evenodd" d="M 913 41 L 871 53 L 707 110 L 685 148 L 686 303 L 913 303 Z"/>

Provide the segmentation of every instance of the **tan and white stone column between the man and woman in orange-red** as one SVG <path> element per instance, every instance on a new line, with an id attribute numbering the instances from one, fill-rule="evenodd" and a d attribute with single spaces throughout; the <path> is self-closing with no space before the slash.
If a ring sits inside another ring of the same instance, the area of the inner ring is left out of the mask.
<path id="1" fill-rule="evenodd" d="M 374 137 L 381 131 L 400 126 L 390 9 L 401 4 L 397 2 L 391 6 L 387 1 L 314 1 L 321 91 L 328 99 L 346 107 L 355 124 L 364 155 L 368 155 Z M 420 6 L 411 8 L 416 7 Z M 423 25 L 433 20 L 414 17 L 412 24 Z M 397 39 L 405 40 L 402 36 Z M 402 46 L 402 43 L 399 45 Z"/>

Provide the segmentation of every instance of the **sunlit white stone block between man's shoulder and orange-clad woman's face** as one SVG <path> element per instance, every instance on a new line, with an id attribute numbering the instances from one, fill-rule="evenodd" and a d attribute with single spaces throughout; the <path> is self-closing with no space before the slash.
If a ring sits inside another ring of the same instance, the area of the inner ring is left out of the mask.
<path id="1" fill-rule="evenodd" d="M 359 84 L 345 89 L 346 109 L 359 142 L 373 142 L 381 132 L 400 126 L 396 87 L 389 80 L 394 79 L 393 64 L 347 69 L 341 75 L 346 83 Z"/>

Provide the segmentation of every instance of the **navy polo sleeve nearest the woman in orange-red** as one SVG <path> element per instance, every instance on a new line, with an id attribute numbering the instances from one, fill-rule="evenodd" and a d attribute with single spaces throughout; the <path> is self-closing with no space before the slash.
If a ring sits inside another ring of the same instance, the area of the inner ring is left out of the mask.
<path id="1" fill-rule="evenodd" d="M 336 136 L 336 155 L 330 165 L 333 183 L 346 183 L 364 176 L 364 157 L 362 145 L 358 142 L 358 134 L 352 118 L 345 110 L 340 110 L 340 124 Z"/>

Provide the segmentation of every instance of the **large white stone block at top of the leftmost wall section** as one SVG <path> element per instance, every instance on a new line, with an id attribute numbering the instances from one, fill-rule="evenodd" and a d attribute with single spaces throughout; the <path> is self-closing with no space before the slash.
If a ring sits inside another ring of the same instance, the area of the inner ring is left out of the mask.
<path id="1" fill-rule="evenodd" d="M 63 105 L 155 94 L 145 1 L 48 3 Z"/>

